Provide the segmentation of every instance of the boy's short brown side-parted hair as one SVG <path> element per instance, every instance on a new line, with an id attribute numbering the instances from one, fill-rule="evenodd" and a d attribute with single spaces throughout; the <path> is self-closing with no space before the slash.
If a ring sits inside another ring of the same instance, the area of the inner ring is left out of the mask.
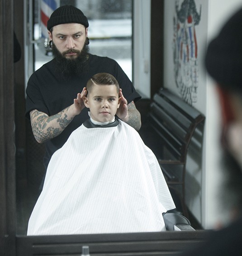
<path id="1" fill-rule="evenodd" d="M 87 81 L 86 90 L 87 93 L 91 92 L 93 85 L 115 85 L 117 93 L 119 94 L 119 83 L 115 77 L 108 73 L 98 73 L 95 74 L 91 79 Z"/>

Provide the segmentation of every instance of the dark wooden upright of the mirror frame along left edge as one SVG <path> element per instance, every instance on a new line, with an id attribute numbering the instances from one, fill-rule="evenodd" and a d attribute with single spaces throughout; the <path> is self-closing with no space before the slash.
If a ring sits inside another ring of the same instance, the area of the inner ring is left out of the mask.
<path id="1" fill-rule="evenodd" d="M 0 253 L 15 255 L 13 0 L 0 1 Z"/>

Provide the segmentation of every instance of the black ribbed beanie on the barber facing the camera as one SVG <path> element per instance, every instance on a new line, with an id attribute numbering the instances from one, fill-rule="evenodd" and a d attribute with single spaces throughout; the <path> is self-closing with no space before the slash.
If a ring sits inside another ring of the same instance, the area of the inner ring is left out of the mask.
<path id="1" fill-rule="evenodd" d="M 65 23 L 80 23 L 87 28 L 89 26 L 86 16 L 81 10 L 72 5 L 63 5 L 53 11 L 47 21 L 47 30 Z"/>

